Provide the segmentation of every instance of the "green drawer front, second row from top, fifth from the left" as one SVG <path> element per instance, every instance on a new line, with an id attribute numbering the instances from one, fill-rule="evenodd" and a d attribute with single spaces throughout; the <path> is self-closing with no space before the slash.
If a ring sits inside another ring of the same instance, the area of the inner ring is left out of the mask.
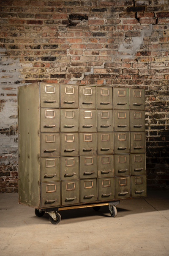
<path id="1" fill-rule="evenodd" d="M 114 131 L 125 132 L 130 130 L 129 110 L 114 110 Z"/>

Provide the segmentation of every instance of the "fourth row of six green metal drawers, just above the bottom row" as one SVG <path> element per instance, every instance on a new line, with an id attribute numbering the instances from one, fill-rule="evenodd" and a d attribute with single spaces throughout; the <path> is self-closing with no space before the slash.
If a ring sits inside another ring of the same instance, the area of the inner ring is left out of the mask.
<path id="1" fill-rule="evenodd" d="M 145 173 L 145 154 L 41 158 L 41 182 Z"/>

